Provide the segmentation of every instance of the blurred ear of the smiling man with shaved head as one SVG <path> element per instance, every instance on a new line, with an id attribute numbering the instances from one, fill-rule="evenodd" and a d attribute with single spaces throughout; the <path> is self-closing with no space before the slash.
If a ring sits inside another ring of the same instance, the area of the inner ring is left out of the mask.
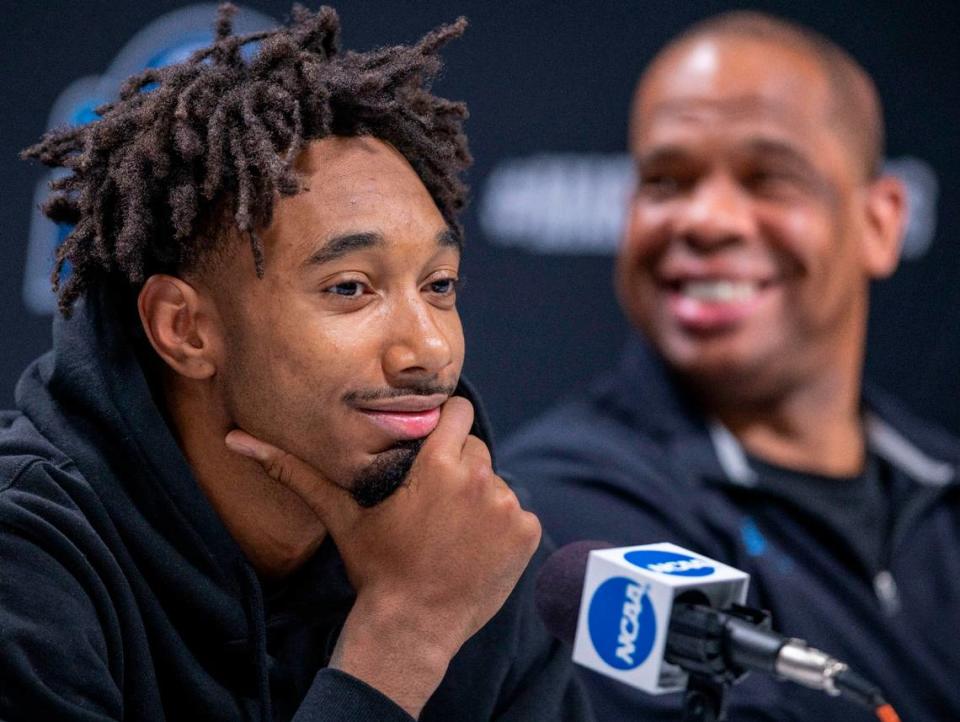
<path id="1" fill-rule="evenodd" d="M 886 278 L 900 260 L 900 243 L 907 220 L 907 189 L 894 176 L 884 175 L 866 189 L 864 260 L 871 278 Z"/>

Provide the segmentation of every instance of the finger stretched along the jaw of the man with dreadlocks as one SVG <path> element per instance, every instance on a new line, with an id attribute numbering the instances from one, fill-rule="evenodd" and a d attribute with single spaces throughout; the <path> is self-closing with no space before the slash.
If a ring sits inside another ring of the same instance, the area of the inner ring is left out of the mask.
<path id="1" fill-rule="evenodd" d="M 330 533 L 355 513 L 355 504 L 346 491 L 328 481 L 314 467 L 266 441 L 234 429 L 224 439 L 234 453 L 253 459 L 270 476 L 299 496 L 310 507 Z"/>

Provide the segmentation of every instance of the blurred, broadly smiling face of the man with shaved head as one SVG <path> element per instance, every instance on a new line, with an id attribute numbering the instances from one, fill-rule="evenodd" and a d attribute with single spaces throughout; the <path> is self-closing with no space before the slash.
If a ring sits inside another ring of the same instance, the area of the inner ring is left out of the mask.
<path id="1" fill-rule="evenodd" d="M 744 38 L 691 40 L 638 89 L 618 293 L 698 383 L 765 394 L 859 358 L 866 179 L 831 103 L 815 59 Z"/>

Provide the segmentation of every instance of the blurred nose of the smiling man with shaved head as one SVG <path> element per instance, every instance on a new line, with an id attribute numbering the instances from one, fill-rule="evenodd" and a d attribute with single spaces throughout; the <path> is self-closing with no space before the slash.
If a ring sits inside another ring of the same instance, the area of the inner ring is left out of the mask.
<path id="1" fill-rule="evenodd" d="M 675 236 L 702 251 L 742 242 L 755 231 L 749 195 L 723 173 L 700 179 L 675 217 Z"/>

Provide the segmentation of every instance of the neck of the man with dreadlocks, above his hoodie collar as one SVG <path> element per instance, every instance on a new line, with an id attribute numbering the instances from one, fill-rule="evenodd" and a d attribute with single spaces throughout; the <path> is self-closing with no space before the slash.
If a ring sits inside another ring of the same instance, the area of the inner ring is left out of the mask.
<path id="1" fill-rule="evenodd" d="M 209 386 L 168 379 L 164 395 L 201 490 L 257 572 L 279 578 L 307 561 L 326 529 L 299 496 L 227 449 L 231 425 Z"/>

